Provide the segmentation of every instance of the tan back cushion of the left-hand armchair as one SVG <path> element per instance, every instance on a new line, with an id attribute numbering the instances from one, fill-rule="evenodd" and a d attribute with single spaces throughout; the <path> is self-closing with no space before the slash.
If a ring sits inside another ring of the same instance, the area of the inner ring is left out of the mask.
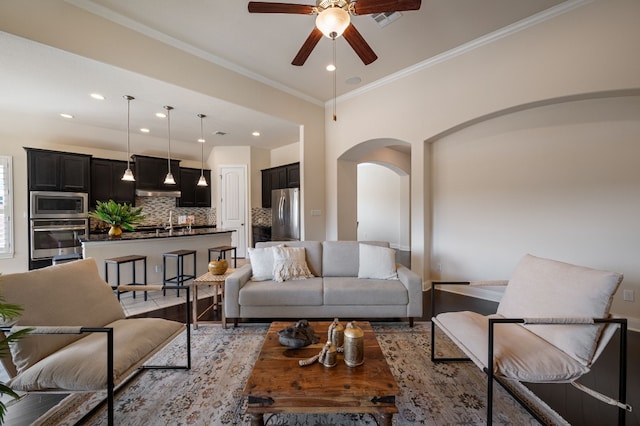
<path id="1" fill-rule="evenodd" d="M 0 294 L 21 305 L 18 326 L 103 327 L 125 317 L 94 259 L 82 259 L 17 274 L 0 275 Z M 61 309 L 67 306 L 68 309 Z M 11 345 L 13 363 L 24 371 L 82 335 L 27 336 Z"/>

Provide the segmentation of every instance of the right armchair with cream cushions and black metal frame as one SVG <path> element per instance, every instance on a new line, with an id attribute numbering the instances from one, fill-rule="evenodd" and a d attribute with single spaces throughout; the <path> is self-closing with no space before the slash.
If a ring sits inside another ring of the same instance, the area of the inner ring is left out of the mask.
<path id="1" fill-rule="evenodd" d="M 431 360 L 473 361 L 487 375 L 487 424 L 492 423 L 493 380 L 571 383 L 618 407 L 618 424 L 626 411 L 627 320 L 611 318 L 609 309 L 622 274 L 526 255 L 507 283 L 496 314 L 436 314 L 436 285 L 491 285 L 492 282 L 432 282 Z M 504 283 L 504 282 L 502 282 Z M 468 358 L 436 357 L 435 331 L 442 330 Z M 617 400 L 586 388 L 577 380 L 588 373 L 620 329 Z M 509 391 L 509 393 L 511 393 Z M 514 398 L 525 408 L 524 402 Z M 528 409 L 528 408 L 527 408 Z M 544 423 L 535 412 L 530 413 Z"/>

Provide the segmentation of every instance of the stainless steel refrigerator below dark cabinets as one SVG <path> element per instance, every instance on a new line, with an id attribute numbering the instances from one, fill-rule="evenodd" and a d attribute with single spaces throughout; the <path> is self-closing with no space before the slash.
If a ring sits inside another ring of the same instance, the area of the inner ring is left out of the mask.
<path id="1" fill-rule="evenodd" d="M 300 239 L 300 189 L 271 191 L 271 240 Z"/>

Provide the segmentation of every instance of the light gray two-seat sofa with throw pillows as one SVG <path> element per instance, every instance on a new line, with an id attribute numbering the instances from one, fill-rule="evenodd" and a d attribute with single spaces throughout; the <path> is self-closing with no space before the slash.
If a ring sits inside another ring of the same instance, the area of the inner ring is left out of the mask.
<path id="1" fill-rule="evenodd" d="M 389 247 L 385 242 L 362 242 Z M 304 247 L 313 277 L 276 282 L 253 281 L 251 264 L 225 281 L 225 316 L 239 318 L 408 318 L 422 316 L 422 278 L 400 264 L 398 279 L 358 278 L 358 241 L 261 242 L 256 248 Z"/>

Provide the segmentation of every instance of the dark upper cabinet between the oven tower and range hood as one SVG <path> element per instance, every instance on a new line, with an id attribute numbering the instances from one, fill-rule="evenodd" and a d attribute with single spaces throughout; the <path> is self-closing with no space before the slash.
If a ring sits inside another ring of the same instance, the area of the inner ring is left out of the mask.
<path id="1" fill-rule="evenodd" d="M 135 174 L 134 164 L 131 169 Z M 113 200 L 117 203 L 135 204 L 135 182 L 122 180 L 124 171 L 127 170 L 126 161 L 106 160 L 103 158 L 91 159 L 91 192 L 90 206 L 93 209 L 96 201 Z"/>

